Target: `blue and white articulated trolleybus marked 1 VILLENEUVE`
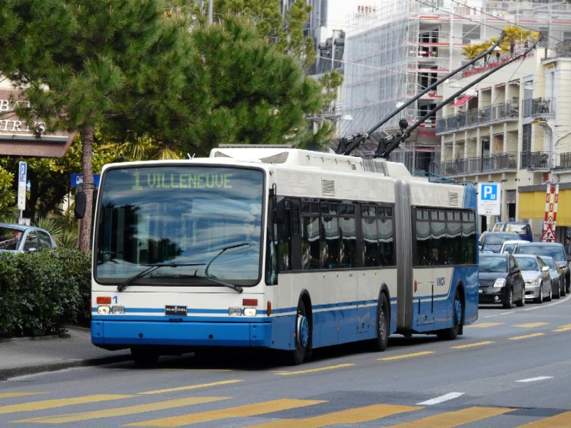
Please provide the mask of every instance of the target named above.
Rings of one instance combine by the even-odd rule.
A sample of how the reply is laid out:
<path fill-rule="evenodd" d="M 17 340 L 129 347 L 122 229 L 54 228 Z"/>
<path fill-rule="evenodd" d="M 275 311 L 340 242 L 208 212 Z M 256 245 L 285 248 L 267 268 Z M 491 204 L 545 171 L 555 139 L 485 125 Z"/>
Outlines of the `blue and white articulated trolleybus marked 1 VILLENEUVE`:
<path fill-rule="evenodd" d="M 477 320 L 476 195 L 401 163 L 289 148 L 106 165 L 91 338 L 134 360 L 314 348 Z"/>

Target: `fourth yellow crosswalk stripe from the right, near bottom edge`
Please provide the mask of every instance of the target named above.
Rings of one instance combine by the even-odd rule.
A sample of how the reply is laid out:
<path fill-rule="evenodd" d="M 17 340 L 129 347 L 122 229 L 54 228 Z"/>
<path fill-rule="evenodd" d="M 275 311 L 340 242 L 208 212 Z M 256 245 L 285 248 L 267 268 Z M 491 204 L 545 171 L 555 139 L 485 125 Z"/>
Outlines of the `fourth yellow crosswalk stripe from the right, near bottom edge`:
<path fill-rule="evenodd" d="M 198 422 L 217 421 L 229 417 L 250 417 L 258 414 L 280 412 L 296 407 L 312 406 L 325 403 L 317 399 L 276 399 L 268 402 L 246 404 L 244 406 L 228 407 L 227 409 L 211 410 L 210 412 L 189 413 L 181 416 L 151 419 L 143 422 L 128 424 L 126 427 L 181 427 Z"/>

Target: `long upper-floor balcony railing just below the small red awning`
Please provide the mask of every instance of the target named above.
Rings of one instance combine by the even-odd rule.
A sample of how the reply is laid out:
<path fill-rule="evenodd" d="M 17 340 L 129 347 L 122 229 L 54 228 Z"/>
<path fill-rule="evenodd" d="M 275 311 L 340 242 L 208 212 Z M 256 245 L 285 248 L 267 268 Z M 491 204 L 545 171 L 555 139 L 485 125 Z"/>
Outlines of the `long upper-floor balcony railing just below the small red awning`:
<path fill-rule="evenodd" d="M 453 116 L 439 118 L 436 123 L 436 132 L 445 133 L 458 131 L 462 128 L 480 126 L 485 123 L 517 119 L 520 116 L 518 101 L 494 104 L 492 106 L 473 108 Z"/>

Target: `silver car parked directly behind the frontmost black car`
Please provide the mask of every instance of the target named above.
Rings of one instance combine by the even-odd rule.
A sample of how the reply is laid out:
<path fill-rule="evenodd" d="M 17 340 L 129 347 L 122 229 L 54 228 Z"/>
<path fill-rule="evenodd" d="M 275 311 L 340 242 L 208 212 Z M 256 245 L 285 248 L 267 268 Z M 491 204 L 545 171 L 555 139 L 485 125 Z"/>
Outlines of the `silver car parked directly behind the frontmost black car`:
<path fill-rule="evenodd" d="M 515 260 L 525 281 L 525 298 L 542 303 L 551 300 L 551 277 L 549 267 L 541 260 L 539 255 L 515 254 Z"/>

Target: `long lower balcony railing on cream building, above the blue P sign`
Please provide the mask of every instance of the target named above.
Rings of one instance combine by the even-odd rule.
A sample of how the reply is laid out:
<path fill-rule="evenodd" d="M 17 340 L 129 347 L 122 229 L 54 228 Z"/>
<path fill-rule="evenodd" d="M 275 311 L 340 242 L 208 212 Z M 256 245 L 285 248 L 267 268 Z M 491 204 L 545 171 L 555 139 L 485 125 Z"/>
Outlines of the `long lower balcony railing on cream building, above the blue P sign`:
<path fill-rule="evenodd" d="M 454 161 L 441 162 L 439 166 L 440 174 L 446 176 L 490 173 L 496 170 L 516 170 L 517 152 L 455 159 Z"/>

